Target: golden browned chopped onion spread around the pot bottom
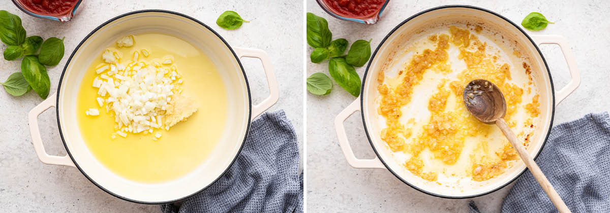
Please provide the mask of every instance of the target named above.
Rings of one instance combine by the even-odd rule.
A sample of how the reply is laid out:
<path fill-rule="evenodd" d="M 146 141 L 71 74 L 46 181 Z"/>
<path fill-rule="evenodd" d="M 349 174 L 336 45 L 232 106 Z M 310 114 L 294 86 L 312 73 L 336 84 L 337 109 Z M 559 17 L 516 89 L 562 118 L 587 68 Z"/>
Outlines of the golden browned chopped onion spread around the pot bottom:
<path fill-rule="evenodd" d="M 381 131 L 381 139 L 386 142 L 393 152 L 406 152 L 411 158 L 404 162 L 403 166 L 414 175 L 424 180 L 436 181 L 436 172 L 424 172 L 424 162 L 420 153 L 429 150 L 435 159 L 444 164 L 455 164 L 464 149 L 464 140 L 468 137 L 487 137 L 492 133 L 492 126 L 476 120 L 468 113 L 462 98 L 451 102 L 451 96 L 462 97 L 464 87 L 468 82 L 475 79 L 486 79 L 500 88 L 506 99 L 507 113 L 505 119 L 511 127 L 517 125 L 514 119 L 519 107 L 523 108 L 523 89 L 511 83 L 511 68 L 507 63 L 497 65 L 497 57 L 494 59 L 486 54 L 486 43 L 481 42 L 476 35 L 467 29 L 459 29 L 451 26 L 450 35 L 439 34 L 427 37 L 429 41 L 436 41 L 436 48 L 425 49 L 416 52 L 403 68 L 400 68 L 401 82 L 398 85 L 384 84 L 386 79 L 383 71 L 378 75 L 379 99 L 378 113 L 386 118 L 387 127 Z M 458 72 L 454 79 L 443 79 L 437 83 L 437 92 L 428 99 L 428 111 L 431 113 L 428 124 L 423 124 L 422 131 L 412 135 L 411 124 L 401 124 L 400 117 L 403 116 L 401 107 L 411 102 L 414 87 L 423 80 L 427 71 L 450 74 L 451 64 L 448 62 L 448 48 L 450 42 L 459 49 L 458 58 L 464 60 L 466 68 Z M 416 50 L 417 51 L 417 50 Z M 532 84 L 529 66 L 523 64 Z M 486 88 L 481 88 L 486 89 Z M 472 94 L 475 96 L 476 94 Z M 531 117 L 539 115 L 539 103 L 537 97 L 533 103 L 529 103 L 526 110 Z M 533 121 L 527 120 L 528 125 Z M 414 130 L 414 132 L 416 132 Z M 523 136 L 523 134 L 522 134 Z M 529 139 L 529 136 L 527 136 Z M 406 144 L 407 139 L 409 143 Z M 493 159 L 471 159 L 472 170 L 466 171 L 472 175 L 473 180 L 484 181 L 504 173 L 509 161 L 516 159 L 514 149 L 503 141 L 502 150 L 495 153 L 497 158 Z M 493 155 L 493 154 L 492 154 Z M 473 156 L 470 156 L 473 158 Z"/>

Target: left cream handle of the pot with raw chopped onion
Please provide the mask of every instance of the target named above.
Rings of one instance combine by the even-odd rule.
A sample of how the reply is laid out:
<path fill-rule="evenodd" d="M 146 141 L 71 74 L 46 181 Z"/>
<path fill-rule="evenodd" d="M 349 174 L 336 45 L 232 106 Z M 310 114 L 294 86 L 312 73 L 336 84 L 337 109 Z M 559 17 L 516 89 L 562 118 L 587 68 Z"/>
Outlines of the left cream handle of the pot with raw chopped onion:
<path fill-rule="evenodd" d="M 43 100 L 43 102 L 35 106 L 34 109 L 30 110 L 29 114 L 27 114 L 27 125 L 29 125 L 30 134 L 32 134 L 32 144 L 34 144 L 34 150 L 36 151 L 36 155 L 38 155 L 38 159 L 45 164 L 76 167 L 68 155 L 54 156 L 46 153 L 45 145 L 42 144 L 42 139 L 40 138 L 40 130 L 38 130 L 38 116 L 48 108 L 56 107 L 56 96 L 57 93 L 47 97 L 45 100 Z"/>

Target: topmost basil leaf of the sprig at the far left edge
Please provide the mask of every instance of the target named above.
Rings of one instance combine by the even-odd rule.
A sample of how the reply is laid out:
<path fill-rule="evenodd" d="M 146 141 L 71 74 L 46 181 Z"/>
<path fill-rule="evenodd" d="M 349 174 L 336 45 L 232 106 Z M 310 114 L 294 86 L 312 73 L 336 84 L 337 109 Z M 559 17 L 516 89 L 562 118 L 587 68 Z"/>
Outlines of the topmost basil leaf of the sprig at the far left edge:
<path fill-rule="evenodd" d="M 21 18 L 6 10 L 0 10 L 0 40 L 7 46 L 18 46 L 26 41 L 26 29 Z"/>

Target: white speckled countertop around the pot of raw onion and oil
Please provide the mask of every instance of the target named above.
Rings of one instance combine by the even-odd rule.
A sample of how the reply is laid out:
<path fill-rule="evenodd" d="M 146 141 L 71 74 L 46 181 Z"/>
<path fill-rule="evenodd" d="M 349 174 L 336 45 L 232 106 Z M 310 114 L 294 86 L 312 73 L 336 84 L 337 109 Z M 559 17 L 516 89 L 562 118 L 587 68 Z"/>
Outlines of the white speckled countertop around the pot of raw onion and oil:
<path fill-rule="evenodd" d="M 295 127 L 303 147 L 303 2 L 277 1 L 94 1 L 84 0 L 74 19 L 59 23 L 34 18 L 18 10 L 11 1 L 0 2 L 0 10 L 21 17 L 27 35 L 43 38 L 66 37 L 65 55 L 60 65 L 48 68 L 51 94 L 56 93 L 59 76 L 74 47 L 95 27 L 123 13 L 143 9 L 173 10 L 192 16 L 216 30 L 231 46 L 266 51 L 279 82 L 279 101 L 270 110 L 284 110 Z M 205 2 L 205 3 L 199 3 Z M 201 5 L 198 5 L 201 4 Z M 237 30 L 224 30 L 216 19 L 224 10 L 234 10 L 250 21 Z M 2 51 L 4 44 L 0 44 Z M 262 65 L 243 58 L 252 89 L 253 103 L 268 96 Z M 20 71 L 19 61 L 0 58 L 0 81 Z M 0 206 L 3 212 L 159 212 L 157 205 L 129 203 L 106 194 L 73 167 L 51 166 L 34 153 L 27 127 L 27 112 L 42 100 L 33 91 L 13 97 L 0 89 Z M 55 110 L 38 118 L 47 152 L 65 155 L 57 128 Z"/>

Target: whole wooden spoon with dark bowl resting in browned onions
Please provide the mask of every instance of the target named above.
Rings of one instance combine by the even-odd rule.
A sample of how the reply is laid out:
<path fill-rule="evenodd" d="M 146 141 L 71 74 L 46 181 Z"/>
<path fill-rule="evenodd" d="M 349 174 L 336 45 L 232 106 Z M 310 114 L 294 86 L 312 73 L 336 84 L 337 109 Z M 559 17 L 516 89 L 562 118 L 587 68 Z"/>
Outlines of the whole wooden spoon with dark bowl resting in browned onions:
<path fill-rule="evenodd" d="M 529 156 L 528 151 L 521 144 L 515 133 L 512 132 L 511 128 L 508 127 L 506 121 L 504 121 L 504 114 L 506 114 L 506 101 L 504 95 L 498 89 L 496 85 L 487 80 L 473 80 L 468 83 L 464 89 L 464 103 L 470 113 L 486 124 L 496 124 L 504 133 L 504 136 L 511 142 L 512 147 L 517 150 L 519 156 L 525 162 L 525 166 L 528 167 L 529 172 L 534 175 L 534 178 L 538 181 L 542 189 L 547 192 L 548 198 L 551 199 L 555 207 L 559 212 L 570 212 L 557 191 L 553 188 L 551 183 L 548 182 L 547 177 L 544 176 L 540 167 L 536 164 L 536 161 Z"/>

